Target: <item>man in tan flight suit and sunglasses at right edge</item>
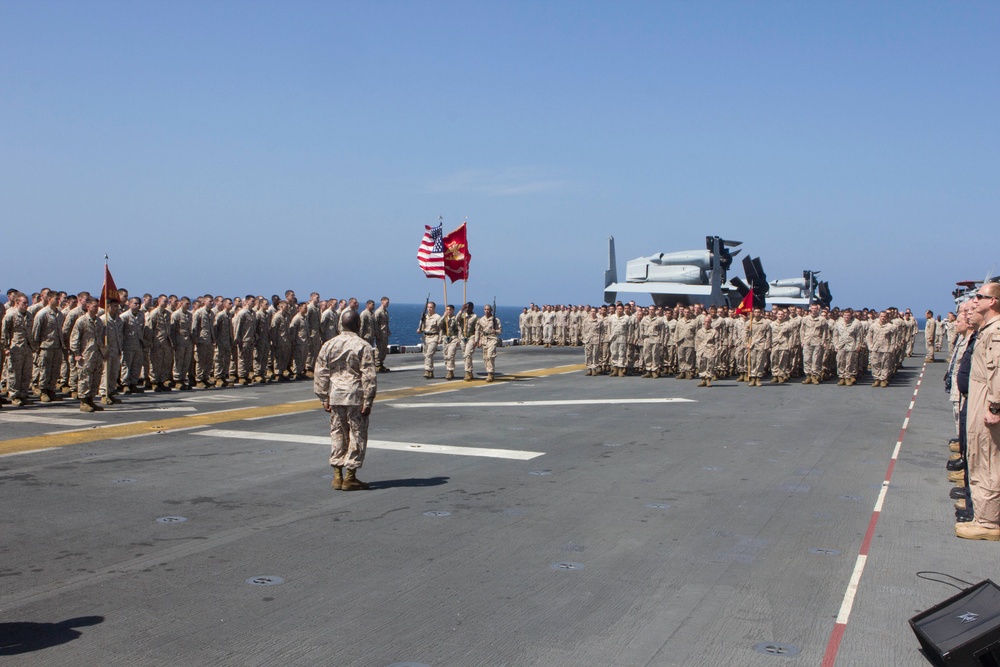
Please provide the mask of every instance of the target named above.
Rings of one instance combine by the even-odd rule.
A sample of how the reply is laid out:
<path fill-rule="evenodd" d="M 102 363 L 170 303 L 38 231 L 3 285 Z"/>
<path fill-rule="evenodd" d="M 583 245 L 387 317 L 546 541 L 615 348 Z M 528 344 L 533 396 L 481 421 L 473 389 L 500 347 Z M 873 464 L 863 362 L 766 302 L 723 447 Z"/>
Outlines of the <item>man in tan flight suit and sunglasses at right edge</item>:
<path fill-rule="evenodd" d="M 969 371 L 966 418 L 969 487 L 974 518 L 956 523 L 955 535 L 1000 541 L 1000 284 L 986 283 L 973 297 L 978 324 Z"/>

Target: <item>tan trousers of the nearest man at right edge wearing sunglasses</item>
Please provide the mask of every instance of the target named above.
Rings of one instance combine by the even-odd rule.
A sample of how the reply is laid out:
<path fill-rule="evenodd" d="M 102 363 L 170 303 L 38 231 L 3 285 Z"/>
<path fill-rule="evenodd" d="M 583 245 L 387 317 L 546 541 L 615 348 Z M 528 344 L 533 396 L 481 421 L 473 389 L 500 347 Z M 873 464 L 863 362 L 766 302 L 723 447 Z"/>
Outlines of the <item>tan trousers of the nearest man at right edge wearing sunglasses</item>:
<path fill-rule="evenodd" d="M 970 389 L 970 399 L 974 392 Z M 966 461 L 969 465 L 969 489 L 979 525 L 1000 525 L 1000 424 L 986 426 L 983 413 L 985 402 L 978 410 L 967 413 L 965 424 L 968 438 Z"/>

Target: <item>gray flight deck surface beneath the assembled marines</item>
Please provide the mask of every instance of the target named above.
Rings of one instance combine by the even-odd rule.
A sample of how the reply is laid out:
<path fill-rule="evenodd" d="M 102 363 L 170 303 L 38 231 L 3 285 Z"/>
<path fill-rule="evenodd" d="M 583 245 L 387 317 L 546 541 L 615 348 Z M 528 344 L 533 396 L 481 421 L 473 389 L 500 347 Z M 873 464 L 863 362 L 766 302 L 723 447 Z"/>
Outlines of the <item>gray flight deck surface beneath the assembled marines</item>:
<path fill-rule="evenodd" d="M 498 368 L 582 357 L 505 348 Z M 428 384 L 419 357 L 389 362 L 409 370 L 380 391 Z M 373 447 L 368 492 L 330 489 L 321 411 L 5 456 L 0 663 L 819 665 L 922 363 L 888 389 L 453 382 L 377 403 L 370 438 L 544 454 Z M 837 665 L 928 664 L 907 619 L 957 591 L 916 573 L 997 576 L 1000 547 L 953 536 L 944 366 L 916 398 Z M 116 424 L 311 397 L 303 382 L 146 394 L 96 416 L 4 406 L 0 441 L 80 427 L 27 415 Z M 661 397 L 693 402 L 530 403 Z M 502 401 L 526 403 L 454 405 Z M 247 583 L 262 576 L 283 583 Z M 25 633 L 24 652 L 3 648 Z"/>

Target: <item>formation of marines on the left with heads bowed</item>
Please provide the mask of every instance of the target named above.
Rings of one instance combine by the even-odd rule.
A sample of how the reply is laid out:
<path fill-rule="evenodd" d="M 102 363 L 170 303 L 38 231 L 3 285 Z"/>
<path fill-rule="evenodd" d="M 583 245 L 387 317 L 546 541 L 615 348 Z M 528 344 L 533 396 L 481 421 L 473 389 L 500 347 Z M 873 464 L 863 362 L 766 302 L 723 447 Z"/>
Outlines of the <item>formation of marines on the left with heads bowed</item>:
<path fill-rule="evenodd" d="M 0 368 L 9 402 L 24 406 L 78 399 L 82 412 L 120 403 L 120 394 L 189 391 L 312 378 L 323 343 L 341 331 L 348 311 L 358 315 L 360 337 L 385 372 L 389 350 L 389 299 L 299 302 L 246 295 L 228 298 L 119 290 L 101 308 L 89 292 L 48 288 L 31 295 L 7 293 L 0 305 Z M 2 401 L 0 401 L 2 404 Z"/>

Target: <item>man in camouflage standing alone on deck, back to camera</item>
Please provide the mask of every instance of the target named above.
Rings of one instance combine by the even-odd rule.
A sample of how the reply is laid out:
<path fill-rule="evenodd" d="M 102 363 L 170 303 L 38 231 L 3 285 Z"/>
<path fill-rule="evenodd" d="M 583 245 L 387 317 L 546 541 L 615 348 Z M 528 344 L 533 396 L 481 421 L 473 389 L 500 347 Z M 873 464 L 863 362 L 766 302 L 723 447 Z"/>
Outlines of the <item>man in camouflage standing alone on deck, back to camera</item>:
<path fill-rule="evenodd" d="M 358 335 L 358 314 L 346 311 L 340 329 L 316 355 L 313 391 L 330 413 L 333 488 L 355 491 L 368 488 L 357 478 L 357 470 L 365 462 L 368 416 L 375 402 L 378 372 L 371 345 Z"/>

